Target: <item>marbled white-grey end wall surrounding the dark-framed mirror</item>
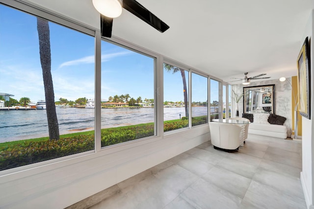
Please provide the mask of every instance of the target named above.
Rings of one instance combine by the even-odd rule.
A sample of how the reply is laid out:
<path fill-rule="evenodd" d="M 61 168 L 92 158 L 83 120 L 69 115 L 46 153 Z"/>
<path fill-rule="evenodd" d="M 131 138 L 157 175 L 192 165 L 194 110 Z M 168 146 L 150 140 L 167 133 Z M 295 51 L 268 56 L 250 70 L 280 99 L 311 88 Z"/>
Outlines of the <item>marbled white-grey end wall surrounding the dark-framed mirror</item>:
<path fill-rule="evenodd" d="M 298 53 L 298 52 L 297 52 Z M 297 55 L 296 55 L 297 57 Z M 297 72 L 295 72 L 296 75 Z M 291 78 L 287 78 L 291 82 Z M 281 82 L 279 79 L 276 80 L 266 80 L 252 82 L 249 85 L 237 84 L 233 85 L 235 93 L 242 93 L 243 87 L 251 86 L 263 86 L 275 84 L 275 114 L 279 116 L 284 116 L 287 118 L 285 125 L 287 129 L 291 130 L 292 127 L 292 115 L 291 115 L 291 86 L 288 82 Z M 242 116 L 243 113 L 243 100 L 239 102 L 239 116 Z"/>

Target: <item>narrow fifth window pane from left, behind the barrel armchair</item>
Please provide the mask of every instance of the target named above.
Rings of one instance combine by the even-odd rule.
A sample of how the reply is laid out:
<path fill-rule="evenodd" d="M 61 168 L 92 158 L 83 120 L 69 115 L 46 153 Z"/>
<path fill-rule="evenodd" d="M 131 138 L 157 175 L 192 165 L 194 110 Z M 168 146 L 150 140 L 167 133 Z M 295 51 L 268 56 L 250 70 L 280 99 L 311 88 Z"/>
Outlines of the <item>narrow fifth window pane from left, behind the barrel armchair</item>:
<path fill-rule="evenodd" d="M 219 81 L 210 79 L 210 121 L 219 118 L 219 86 Z"/>

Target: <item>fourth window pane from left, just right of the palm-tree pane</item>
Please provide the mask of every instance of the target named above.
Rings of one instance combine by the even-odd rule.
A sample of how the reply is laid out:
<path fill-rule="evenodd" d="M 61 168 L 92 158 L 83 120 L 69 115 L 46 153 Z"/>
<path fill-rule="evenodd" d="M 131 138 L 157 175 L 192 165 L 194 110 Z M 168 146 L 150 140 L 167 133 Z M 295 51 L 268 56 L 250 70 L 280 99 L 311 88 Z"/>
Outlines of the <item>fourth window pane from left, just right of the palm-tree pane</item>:
<path fill-rule="evenodd" d="M 192 73 L 192 126 L 207 123 L 208 78 Z"/>

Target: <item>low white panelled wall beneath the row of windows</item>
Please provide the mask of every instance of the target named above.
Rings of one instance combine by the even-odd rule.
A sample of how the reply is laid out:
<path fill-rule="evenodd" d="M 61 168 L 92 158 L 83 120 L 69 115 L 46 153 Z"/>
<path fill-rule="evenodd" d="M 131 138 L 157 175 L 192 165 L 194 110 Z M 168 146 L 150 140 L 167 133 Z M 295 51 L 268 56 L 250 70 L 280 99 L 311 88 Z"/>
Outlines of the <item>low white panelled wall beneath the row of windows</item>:
<path fill-rule="evenodd" d="M 207 140 L 208 124 L 1 176 L 0 208 L 63 209 Z"/>

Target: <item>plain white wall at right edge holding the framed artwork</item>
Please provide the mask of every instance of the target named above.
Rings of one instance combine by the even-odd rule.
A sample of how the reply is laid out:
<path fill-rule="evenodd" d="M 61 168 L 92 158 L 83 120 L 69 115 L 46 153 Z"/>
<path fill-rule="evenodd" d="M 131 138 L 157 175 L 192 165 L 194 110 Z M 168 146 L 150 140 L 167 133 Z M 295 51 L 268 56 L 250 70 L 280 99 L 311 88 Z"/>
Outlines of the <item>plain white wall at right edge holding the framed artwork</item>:
<path fill-rule="evenodd" d="M 309 21 L 305 28 L 303 37 L 300 40 L 300 49 L 303 45 L 305 38 L 309 37 L 310 49 L 311 49 L 311 113 L 313 113 L 314 106 L 314 90 L 313 90 L 313 34 L 314 34 L 314 13 L 312 11 Z M 308 208 L 314 209 L 314 143 L 313 143 L 313 114 L 311 119 L 302 117 L 302 172 L 301 182 L 303 192 Z"/>

